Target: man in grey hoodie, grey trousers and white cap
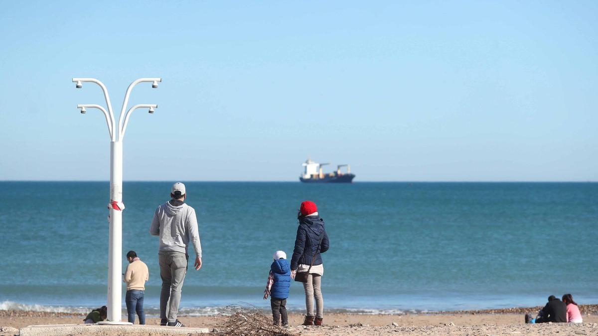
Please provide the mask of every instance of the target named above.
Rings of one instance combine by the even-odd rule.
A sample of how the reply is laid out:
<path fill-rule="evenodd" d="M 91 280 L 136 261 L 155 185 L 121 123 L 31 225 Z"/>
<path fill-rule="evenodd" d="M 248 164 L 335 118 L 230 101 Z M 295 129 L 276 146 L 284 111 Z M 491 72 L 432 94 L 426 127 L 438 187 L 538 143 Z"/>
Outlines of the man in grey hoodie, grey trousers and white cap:
<path fill-rule="evenodd" d="M 172 200 L 158 206 L 149 233 L 160 236 L 158 261 L 162 290 L 160 292 L 160 325 L 184 326 L 176 315 L 181 302 L 181 288 L 187 274 L 189 240 L 195 249 L 195 269 L 202 268 L 202 245 L 199 241 L 195 209 L 185 204 L 185 185 L 177 182 L 170 191 Z M 168 316 L 166 316 L 168 306 Z"/>

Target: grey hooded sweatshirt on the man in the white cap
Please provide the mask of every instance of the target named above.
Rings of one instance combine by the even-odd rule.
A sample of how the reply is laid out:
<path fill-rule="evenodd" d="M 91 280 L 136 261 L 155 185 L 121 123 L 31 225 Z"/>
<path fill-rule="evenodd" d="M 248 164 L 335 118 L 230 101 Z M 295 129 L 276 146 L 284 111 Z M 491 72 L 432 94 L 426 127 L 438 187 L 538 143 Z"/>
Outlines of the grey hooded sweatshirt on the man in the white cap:
<path fill-rule="evenodd" d="M 155 209 L 149 233 L 160 236 L 159 251 L 176 251 L 187 254 L 189 240 L 199 258 L 202 258 L 202 244 L 199 241 L 195 209 L 185 203 L 176 206 L 166 202 Z"/>

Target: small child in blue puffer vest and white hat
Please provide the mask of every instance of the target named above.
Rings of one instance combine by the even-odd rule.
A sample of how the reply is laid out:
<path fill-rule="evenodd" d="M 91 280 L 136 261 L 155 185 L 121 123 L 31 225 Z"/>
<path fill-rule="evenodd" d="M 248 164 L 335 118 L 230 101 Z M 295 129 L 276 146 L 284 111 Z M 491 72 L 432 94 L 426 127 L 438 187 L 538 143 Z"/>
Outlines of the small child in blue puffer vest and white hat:
<path fill-rule="evenodd" d="M 273 258 L 274 262 L 270 265 L 270 275 L 266 283 L 266 291 L 264 291 L 264 300 L 270 295 L 274 325 L 280 325 L 279 320 L 282 317 L 282 325 L 288 326 L 286 298 L 289 297 L 289 289 L 291 288 L 291 265 L 286 260 L 286 253 L 283 251 L 276 251 Z"/>

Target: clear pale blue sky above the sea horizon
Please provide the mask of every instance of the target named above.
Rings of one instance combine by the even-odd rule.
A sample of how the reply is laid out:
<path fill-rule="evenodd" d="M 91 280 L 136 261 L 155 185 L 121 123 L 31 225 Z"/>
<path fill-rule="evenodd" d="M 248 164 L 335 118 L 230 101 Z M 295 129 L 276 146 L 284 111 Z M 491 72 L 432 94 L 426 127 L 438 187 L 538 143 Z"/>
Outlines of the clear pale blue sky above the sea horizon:
<path fill-rule="evenodd" d="M 596 1 L 0 2 L 0 180 L 598 181 Z M 328 170 L 331 170 L 328 168 Z"/>

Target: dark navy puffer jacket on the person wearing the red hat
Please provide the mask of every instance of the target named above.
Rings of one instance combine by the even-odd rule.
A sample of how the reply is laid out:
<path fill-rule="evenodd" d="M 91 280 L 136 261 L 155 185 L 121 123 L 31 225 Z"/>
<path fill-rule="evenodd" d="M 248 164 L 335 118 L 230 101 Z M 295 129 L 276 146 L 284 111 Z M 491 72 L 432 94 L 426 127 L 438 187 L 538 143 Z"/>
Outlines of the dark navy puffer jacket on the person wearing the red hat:
<path fill-rule="evenodd" d="M 323 236 L 323 238 L 322 238 Z M 318 249 L 318 243 L 322 238 L 322 245 L 319 249 L 314 265 L 322 264 L 320 253 L 328 251 L 329 242 L 326 230 L 324 230 L 324 219 L 319 216 L 305 216 L 299 219 L 297 228 L 297 238 L 295 239 L 295 249 L 291 258 L 291 270 L 297 270 L 298 264 L 312 264 L 313 254 Z"/>

